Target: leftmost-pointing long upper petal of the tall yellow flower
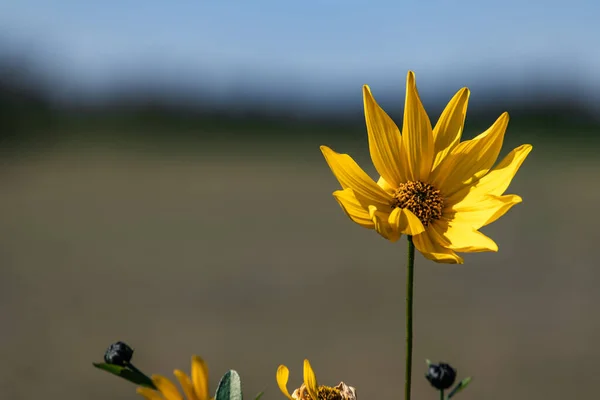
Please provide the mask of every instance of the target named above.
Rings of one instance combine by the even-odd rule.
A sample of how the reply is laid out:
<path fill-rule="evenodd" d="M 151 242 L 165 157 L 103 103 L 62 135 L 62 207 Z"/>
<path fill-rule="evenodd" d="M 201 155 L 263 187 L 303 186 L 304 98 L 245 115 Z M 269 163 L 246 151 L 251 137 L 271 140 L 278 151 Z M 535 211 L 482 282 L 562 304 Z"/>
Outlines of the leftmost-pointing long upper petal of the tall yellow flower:
<path fill-rule="evenodd" d="M 321 151 L 342 188 L 352 189 L 361 203 L 382 208 L 390 204 L 390 196 L 354 162 L 352 157 L 336 153 L 327 146 L 321 146 Z"/>

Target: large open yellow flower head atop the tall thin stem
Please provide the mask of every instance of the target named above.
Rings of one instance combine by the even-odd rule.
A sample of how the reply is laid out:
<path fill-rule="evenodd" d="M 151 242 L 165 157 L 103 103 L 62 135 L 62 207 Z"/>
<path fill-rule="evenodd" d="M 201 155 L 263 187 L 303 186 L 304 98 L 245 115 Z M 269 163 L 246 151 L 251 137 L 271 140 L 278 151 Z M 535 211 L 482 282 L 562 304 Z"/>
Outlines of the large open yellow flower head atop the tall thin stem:
<path fill-rule="evenodd" d="M 521 145 L 492 168 L 508 114 L 461 142 L 469 89 L 454 95 L 432 129 L 409 71 L 401 135 L 366 85 L 363 97 L 369 152 L 381 176 L 377 183 L 349 155 L 321 146 L 343 189 L 333 196 L 350 219 L 392 242 L 412 235 L 416 248 L 436 262 L 462 264 L 455 252 L 498 251 L 479 229 L 522 201 L 503 193 L 532 149 Z"/>

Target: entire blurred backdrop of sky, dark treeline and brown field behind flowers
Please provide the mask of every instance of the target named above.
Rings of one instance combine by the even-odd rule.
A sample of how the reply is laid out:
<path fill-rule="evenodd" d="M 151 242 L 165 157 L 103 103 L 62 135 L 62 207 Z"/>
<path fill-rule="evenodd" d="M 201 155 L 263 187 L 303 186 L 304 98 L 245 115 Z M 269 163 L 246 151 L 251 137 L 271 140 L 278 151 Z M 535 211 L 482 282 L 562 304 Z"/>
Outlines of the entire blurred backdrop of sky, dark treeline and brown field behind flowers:
<path fill-rule="evenodd" d="M 508 111 L 534 151 L 484 229 L 497 254 L 420 255 L 425 358 L 460 398 L 597 393 L 600 10 L 591 1 L 0 2 L 0 397 L 134 399 L 106 347 L 172 377 L 204 357 L 247 398 L 321 383 L 403 396 L 405 240 L 350 222 L 319 151 L 370 173 L 361 86 L 401 123 L 414 70 L 464 138 Z M 596 238 L 596 239 L 594 239 Z"/>

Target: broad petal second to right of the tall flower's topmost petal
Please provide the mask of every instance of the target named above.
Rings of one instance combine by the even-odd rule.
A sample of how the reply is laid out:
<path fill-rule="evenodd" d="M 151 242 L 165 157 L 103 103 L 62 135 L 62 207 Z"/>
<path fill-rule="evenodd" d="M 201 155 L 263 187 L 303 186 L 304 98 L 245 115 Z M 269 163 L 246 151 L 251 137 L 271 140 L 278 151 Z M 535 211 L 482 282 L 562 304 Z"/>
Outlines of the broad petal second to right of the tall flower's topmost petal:
<path fill-rule="evenodd" d="M 459 143 L 432 174 L 433 186 L 451 196 L 485 175 L 498 158 L 508 119 L 504 113 L 488 130 Z"/>

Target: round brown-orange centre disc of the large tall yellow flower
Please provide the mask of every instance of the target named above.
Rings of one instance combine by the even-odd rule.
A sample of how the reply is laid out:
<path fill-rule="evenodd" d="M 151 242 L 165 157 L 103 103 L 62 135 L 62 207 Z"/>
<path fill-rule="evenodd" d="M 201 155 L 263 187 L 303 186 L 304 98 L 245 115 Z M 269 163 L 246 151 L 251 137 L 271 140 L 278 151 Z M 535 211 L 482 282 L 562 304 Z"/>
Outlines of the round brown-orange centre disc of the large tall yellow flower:
<path fill-rule="evenodd" d="M 423 226 L 440 219 L 444 208 L 444 198 L 439 189 L 429 183 L 411 181 L 401 183 L 396 192 L 392 208 L 406 208 L 417 216 Z"/>

